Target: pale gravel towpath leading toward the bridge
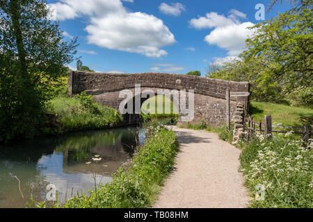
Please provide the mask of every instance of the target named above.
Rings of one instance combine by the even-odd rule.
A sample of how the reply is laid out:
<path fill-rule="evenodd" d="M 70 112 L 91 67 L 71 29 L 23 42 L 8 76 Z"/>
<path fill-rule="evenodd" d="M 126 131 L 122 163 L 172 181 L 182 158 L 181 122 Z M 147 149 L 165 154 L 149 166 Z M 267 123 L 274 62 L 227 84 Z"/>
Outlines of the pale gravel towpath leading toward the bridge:
<path fill-rule="evenodd" d="M 241 151 L 215 133 L 169 128 L 175 130 L 181 150 L 154 207 L 247 207 L 250 196 L 238 172 Z"/>

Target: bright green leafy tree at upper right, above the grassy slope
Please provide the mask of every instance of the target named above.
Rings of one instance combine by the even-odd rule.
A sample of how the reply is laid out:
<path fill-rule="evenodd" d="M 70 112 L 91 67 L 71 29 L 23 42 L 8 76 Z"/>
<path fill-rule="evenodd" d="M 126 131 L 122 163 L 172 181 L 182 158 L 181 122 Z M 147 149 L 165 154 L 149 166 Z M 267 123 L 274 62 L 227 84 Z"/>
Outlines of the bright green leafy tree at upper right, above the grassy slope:
<path fill-rule="evenodd" d="M 297 2 L 298 8 L 252 27 L 255 35 L 247 40 L 249 49 L 241 55 L 246 63 L 262 58 L 262 70 L 287 92 L 310 87 L 313 80 L 312 0 Z"/>

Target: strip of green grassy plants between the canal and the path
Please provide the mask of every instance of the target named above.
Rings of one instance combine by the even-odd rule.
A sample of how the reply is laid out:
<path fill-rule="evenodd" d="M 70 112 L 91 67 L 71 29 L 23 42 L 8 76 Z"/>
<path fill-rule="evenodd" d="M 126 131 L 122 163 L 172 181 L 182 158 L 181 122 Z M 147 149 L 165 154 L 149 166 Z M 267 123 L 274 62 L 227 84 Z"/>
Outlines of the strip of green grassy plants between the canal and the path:
<path fill-rule="evenodd" d="M 149 130 L 145 145 L 113 174 L 111 183 L 89 191 L 88 195 L 75 196 L 62 207 L 151 207 L 172 171 L 179 146 L 173 132 L 160 126 L 151 126 Z"/>

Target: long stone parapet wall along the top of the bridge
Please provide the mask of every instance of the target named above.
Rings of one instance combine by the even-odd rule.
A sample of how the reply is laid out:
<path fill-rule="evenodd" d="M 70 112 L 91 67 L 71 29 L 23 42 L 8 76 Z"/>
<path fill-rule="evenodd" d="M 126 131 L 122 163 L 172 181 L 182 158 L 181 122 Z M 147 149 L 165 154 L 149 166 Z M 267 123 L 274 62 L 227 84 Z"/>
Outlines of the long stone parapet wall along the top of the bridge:
<path fill-rule="evenodd" d="M 141 87 L 182 90 L 193 89 L 195 94 L 225 99 L 226 89 L 231 92 L 250 92 L 250 83 L 220 80 L 201 76 L 168 73 L 113 74 L 99 72 L 70 71 L 68 78 L 69 94 L 88 92 L 101 94 L 130 89 L 135 84 Z M 232 101 L 248 101 L 249 96 L 232 96 Z"/>

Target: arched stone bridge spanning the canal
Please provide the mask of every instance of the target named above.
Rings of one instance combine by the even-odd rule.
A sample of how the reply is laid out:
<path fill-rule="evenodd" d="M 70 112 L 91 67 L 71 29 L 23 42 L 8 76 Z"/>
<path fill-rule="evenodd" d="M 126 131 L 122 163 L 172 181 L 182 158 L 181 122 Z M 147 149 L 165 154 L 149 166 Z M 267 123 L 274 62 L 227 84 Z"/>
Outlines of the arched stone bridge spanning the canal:
<path fill-rule="evenodd" d="M 68 94 L 70 96 L 85 91 L 87 94 L 93 95 L 95 101 L 115 109 L 118 109 L 120 103 L 125 100 L 124 97 L 119 98 L 120 92 L 123 89 L 131 90 L 134 97 L 138 96 L 138 92 L 135 92 L 136 84 L 141 85 L 141 92 L 145 89 L 150 89 L 155 94 L 157 94 L 158 89 L 177 89 L 179 92 L 185 89 L 187 92 L 187 104 L 188 90 L 193 89 L 195 117 L 191 123 L 198 124 L 203 119 L 210 126 L 220 126 L 225 123 L 226 89 L 230 89 L 230 92 L 250 92 L 250 84 L 246 82 L 239 83 L 199 76 L 161 73 L 106 74 L 70 71 L 67 84 Z M 173 100 L 172 98 L 170 99 Z M 141 98 L 141 105 L 145 100 Z M 249 107 L 249 96 L 231 96 L 231 118 L 234 116 L 236 104 L 239 101 L 245 104 L 245 109 Z M 179 119 L 181 119 L 183 114 L 179 108 L 177 110 L 179 110 Z M 138 114 L 124 115 L 126 121 L 129 123 L 138 121 L 138 116 Z"/>

